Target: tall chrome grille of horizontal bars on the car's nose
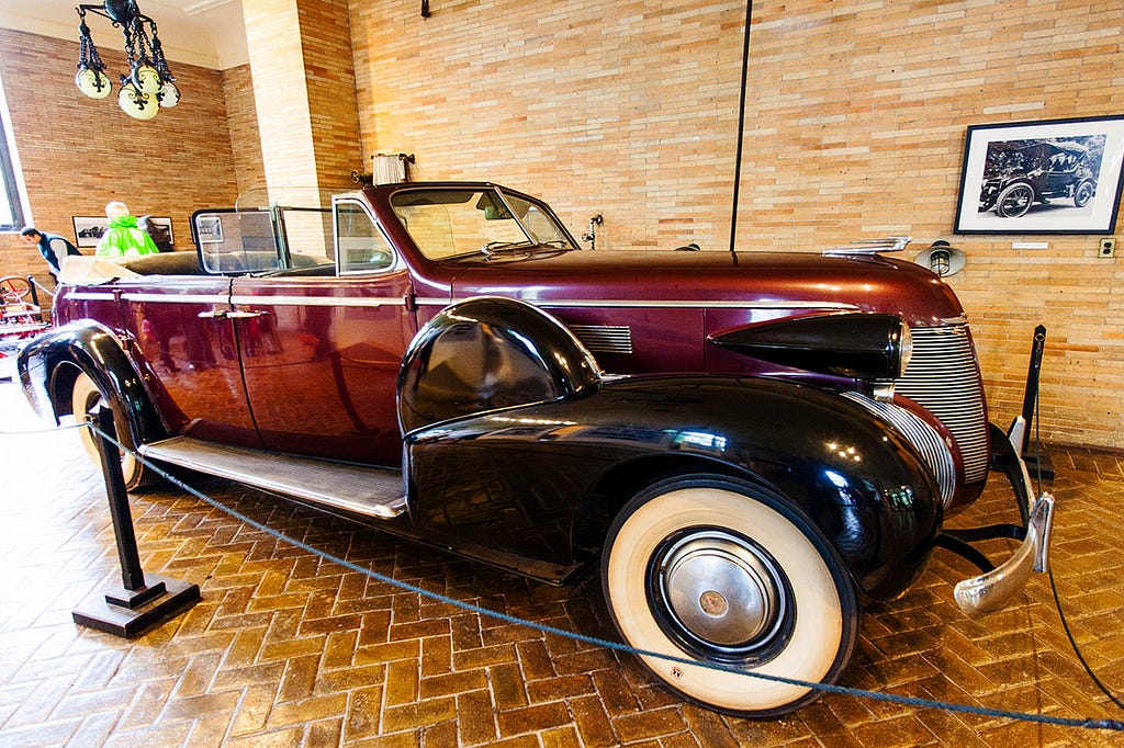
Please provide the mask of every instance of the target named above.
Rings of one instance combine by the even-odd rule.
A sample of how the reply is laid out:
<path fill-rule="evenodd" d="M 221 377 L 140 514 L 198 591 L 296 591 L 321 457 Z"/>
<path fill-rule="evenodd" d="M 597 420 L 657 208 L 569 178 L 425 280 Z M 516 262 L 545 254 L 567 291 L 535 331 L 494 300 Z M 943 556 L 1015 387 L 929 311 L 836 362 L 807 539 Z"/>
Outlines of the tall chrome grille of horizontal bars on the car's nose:
<path fill-rule="evenodd" d="M 984 387 L 967 325 L 915 327 L 913 359 L 895 381 L 898 394 L 936 416 L 952 432 L 964 460 L 964 480 L 987 477 L 987 417 Z"/>

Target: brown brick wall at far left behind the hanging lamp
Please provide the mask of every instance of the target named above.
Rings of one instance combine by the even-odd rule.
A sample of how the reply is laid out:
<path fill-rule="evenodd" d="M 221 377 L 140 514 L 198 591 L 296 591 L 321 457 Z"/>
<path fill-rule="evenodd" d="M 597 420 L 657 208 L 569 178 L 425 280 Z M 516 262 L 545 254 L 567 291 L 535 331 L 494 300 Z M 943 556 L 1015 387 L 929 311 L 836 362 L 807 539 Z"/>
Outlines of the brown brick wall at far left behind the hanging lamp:
<path fill-rule="evenodd" d="M 190 248 L 192 211 L 233 204 L 237 195 L 224 75 L 173 62 L 180 104 L 151 121 L 136 121 L 117 107 L 116 79 L 125 70 L 125 55 L 115 49 L 120 34 L 109 31 L 94 30 L 94 40 L 114 93 L 94 101 L 74 86 L 76 42 L 0 29 L 0 76 L 30 220 L 73 240 L 72 216 L 103 216 L 108 201 L 123 200 L 136 216 L 170 216 L 176 247 Z M 235 86 L 234 76 L 227 83 L 226 90 Z M 252 94 L 250 108 L 252 112 Z M 0 272 L 34 274 L 49 285 L 46 270 L 18 236 L 0 235 Z"/>

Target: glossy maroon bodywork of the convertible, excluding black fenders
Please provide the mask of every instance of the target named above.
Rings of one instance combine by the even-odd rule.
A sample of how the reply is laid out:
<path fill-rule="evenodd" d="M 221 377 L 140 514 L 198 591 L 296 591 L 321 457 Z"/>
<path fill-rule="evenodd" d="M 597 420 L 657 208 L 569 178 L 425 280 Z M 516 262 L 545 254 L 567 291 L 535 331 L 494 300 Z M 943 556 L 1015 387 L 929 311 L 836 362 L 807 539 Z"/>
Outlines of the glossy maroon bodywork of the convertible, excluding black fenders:
<path fill-rule="evenodd" d="M 514 255 L 434 258 L 392 204 L 395 195 L 493 189 L 411 184 L 337 198 L 337 209 L 353 207 L 373 218 L 387 239 L 393 259 L 374 273 L 337 273 L 325 254 L 330 248 L 319 244 L 301 253 L 289 231 L 291 247 L 278 253 L 277 272 L 176 275 L 142 283 L 135 293 L 126 284 L 114 294 L 64 286 L 57 318 L 111 326 L 117 320 L 145 346 L 143 358 L 161 368 L 160 410 L 170 414 L 176 432 L 389 465 L 400 451 L 393 400 L 399 362 L 420 326 L 455 300 L 528 301 L 570 326 L 611 373 L 754 374 L 865 392 L 873 383 L 786 366 L 777 357 L 747 357 L 711 340 L 783 319 L 898 314 L 916 348 L 906 375 L 894 383 L 895 399 L 946 437 L 954 471 L 942 486 L 949 505 L 963 505 L 982 490 L 988 428 L 971 336 L 955 295 L 927 270 L 874 253 L 579 252 L 568 234 L 561 236 L 563 246 L 536 252 L 517 247 Z M 553 218 L 542 203 L 519 197 Z M 194 220 L 216 217 L 227 221 L 227 244 L 235 219 L 257 218 L 250 211 L 200 211 Z M 206 252 L 214 245 L 199 246 Z M 312 266 L 285 267 L 310 256 Z M 157 259 L 170 266 L 172 258 Z M 205 254 L 202 265 L 207 262 Z M 152 265 L 143 259 L 125 264 L 146 273 Z M 332 274 L 323 275 L 325 270 Z M 210 322 L 200 325 L 200 316 Z M 241 336 L 235 321 L 245 328 Z M 846 341 L 817 345 L 845 347 Z M 241 357 L 232 356 L 235 352 Z M 324 352 L 332 355 L 310 355 Z M 355 377 L 362 386 L 352 385 Z"/>

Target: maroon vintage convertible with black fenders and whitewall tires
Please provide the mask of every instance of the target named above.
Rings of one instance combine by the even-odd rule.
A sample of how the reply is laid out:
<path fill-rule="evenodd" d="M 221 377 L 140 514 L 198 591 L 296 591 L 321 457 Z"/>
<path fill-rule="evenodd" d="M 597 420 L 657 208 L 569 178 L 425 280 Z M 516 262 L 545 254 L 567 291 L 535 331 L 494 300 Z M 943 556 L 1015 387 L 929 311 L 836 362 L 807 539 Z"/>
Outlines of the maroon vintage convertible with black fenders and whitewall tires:
<path fill-rule="evenodd" d="M 982 614 L 1042 569 L 1050 499 L 1032 503 L 1017 429 L 988 426 L 955 295 L 917 265 L 581 250 L 488 183 L 192 222 L 196 253 L 67 261 L 58 327 L 18 361 L 39 412 L 107 404 L 147 459 L 546 583 L 599 567 L 624 640 L 707 706 L 815 699 L 860 601 L 963 550 L 943 522 L 992 456 L 1023 544 L 955 598 Z"/>

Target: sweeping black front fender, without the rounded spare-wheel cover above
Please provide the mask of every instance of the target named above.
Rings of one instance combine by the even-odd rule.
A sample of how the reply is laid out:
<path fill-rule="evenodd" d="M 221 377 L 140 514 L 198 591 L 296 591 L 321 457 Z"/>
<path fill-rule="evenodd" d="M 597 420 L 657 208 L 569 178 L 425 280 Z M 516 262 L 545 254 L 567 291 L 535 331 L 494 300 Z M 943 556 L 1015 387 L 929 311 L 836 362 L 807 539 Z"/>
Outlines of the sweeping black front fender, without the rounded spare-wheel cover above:
<path fill-rule="evenodd" d="M 407 449 L 427 530 L 558 564 L 575 554 L 562 548 L 564 530 L 573 542 L 574 528 L 604 526 L 676 472 L 737 475 L 798 508 L 878 599 L 916 580 L 943 518 L 933 477 L 896 430 L 843 398 L 771 380 L 606 381 L 434 425 Z"/>

